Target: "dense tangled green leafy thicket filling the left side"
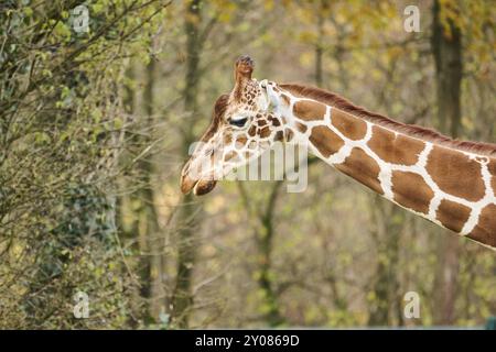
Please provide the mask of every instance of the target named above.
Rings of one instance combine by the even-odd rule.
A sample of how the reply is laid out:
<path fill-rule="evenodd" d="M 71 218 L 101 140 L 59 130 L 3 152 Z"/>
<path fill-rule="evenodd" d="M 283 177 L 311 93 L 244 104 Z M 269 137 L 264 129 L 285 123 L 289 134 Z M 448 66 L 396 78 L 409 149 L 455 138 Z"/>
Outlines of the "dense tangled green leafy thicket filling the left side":
<path fill-rule="evenodd" d="M 147 44 L 140 30 L 153 30 L 166 3 L 104 11 L 97 1 L 90 30 L 82 33 L 71 18 L 75 6 L 9 1 L 0 8 L 8 45 L 0 55 L 3 327 L 118 326 L 129 305 L 133 282 L 115 211 L 118 152 L 126 146 L 120 68 Z M 99 318 L 74 320 L 77 292 L 90 297 Z M 114 304 L 122 310 L 109 309 Z"/>

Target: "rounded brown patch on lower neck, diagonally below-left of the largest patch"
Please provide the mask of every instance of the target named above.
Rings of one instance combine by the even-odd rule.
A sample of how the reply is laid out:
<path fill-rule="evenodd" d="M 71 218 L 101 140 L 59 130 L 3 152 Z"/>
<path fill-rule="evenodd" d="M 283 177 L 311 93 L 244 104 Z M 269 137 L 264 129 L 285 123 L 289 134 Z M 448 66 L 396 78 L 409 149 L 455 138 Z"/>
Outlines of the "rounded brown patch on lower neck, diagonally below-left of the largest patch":
<path fill-rule="evenodd" d="M 434 191 L 425 184 L 422 176 L 393 170 L 391 184 L 395 201 L 417 212 L 429 212 L 429 204 L 434 197 Z"/>

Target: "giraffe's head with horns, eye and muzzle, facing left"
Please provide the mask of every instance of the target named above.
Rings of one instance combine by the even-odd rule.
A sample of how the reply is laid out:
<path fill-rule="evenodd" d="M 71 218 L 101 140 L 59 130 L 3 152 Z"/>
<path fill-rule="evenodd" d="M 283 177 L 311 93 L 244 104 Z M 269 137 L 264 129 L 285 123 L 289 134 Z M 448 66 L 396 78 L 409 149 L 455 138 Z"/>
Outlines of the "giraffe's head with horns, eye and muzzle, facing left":
<path fill-rule="evenodd" d="M 209 193 L 218 179 L 283 140 L 281 118 L 269 111 L 267 89 L 251 78 L 252 72 L 250 57 L 236 61 L 235 87 L 215 102 L 212 123 L 183 167 L 184 194 Z"/>

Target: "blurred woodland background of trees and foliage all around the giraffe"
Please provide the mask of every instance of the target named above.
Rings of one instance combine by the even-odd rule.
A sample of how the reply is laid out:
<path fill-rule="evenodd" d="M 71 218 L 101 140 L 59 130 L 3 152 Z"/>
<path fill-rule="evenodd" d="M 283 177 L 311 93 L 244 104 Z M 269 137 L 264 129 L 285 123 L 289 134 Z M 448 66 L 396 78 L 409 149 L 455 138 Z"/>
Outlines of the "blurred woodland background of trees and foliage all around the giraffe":
<path fill-rule="evenodd" d="M 0 328 L 484 324 L 494 253 L 323 163 L 302 194 L 193 198 L 179 174 L 241 54 L 259 79 L 495 142 L 495 19 L 490 0 L 2 1 Z"/>

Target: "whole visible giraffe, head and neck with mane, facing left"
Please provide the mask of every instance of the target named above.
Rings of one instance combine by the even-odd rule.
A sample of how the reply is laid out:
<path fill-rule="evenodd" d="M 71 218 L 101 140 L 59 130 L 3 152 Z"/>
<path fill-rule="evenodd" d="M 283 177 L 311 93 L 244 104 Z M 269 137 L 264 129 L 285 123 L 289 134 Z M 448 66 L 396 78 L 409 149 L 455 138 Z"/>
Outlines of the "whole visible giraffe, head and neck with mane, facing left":
<path fill-rule="evenodd" d="M 451 140 L 319 88 L 257 81 L 252 70 L 248 56 L 235 63 L 235 87 L 217 99 L 182 169 L 183 193 L 209 193 L 276 142 L 303 144 L 393 204 L 496 251 L 496 144 Z"/>

